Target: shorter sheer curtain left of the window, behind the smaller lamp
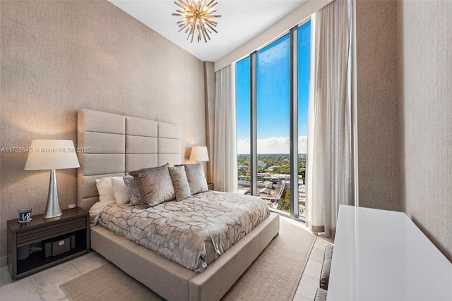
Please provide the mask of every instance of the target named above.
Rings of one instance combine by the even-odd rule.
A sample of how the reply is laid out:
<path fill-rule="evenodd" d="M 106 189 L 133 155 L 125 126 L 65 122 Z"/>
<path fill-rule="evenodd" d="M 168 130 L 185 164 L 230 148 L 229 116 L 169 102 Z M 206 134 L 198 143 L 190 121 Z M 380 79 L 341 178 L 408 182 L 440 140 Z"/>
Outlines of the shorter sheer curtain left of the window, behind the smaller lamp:
<path fill-rule="evenodd" d="M 215 73 L 213 184 L 215 190 L 237 192 L 237 135 L 234 65 Z"/>

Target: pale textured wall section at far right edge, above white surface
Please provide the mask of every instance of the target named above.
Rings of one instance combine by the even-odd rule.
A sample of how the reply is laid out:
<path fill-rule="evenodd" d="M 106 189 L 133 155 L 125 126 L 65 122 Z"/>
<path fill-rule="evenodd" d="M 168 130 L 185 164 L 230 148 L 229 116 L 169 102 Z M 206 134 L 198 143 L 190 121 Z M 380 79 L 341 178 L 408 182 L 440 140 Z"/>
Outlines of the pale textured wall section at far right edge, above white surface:
<path fill-rule="evenodd" d="M 452 261 L 452 1 L 398 3 L 403 207 Z"/>

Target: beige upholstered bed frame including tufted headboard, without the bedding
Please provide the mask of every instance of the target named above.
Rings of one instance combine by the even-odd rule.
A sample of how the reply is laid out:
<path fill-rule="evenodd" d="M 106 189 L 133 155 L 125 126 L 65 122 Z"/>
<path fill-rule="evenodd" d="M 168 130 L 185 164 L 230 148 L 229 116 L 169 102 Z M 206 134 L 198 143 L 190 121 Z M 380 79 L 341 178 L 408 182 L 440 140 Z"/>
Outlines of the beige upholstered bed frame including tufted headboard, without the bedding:
<path fill-rule="evenodd" d="M 100 111 L 78 111 L 78 207 L 98 201 L 96 178 L 180 164 L 180 126 Z M 202 273 L 184 268 L 102 226 L 90 228 L 91 248 L 167 300 L 220 300 L 279 233 L 270 216 Z"/>

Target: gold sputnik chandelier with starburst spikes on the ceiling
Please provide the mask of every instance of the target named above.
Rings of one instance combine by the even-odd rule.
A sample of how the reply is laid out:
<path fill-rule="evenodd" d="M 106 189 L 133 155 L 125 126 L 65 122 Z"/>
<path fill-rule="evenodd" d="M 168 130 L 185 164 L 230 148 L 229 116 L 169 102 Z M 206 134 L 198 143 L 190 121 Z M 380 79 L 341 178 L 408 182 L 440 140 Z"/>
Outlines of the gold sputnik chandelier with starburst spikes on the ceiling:
<path fill-rule="evenodd" d="M 209 33 L 211 30 L 218 33 L 213 27 L 217 27 L 218 22 L 210 20 L 210 18 L 221 18 L 221 15 L 214 15 L 216 12 L 215 5 L 218 2 L 211 0 L 209 4 L 204 5 L 206 0 L 177 0 L 174 4 L 179 6 L 177 13 L 173 13 L 172 16 L 182 17 L 182 20 L 177 22 L 179 26 L 179 32 L 185 29 L 185 33 L 189 33 L 187 39 L 193 43 L 194 36 L 198 38 L 198 42 L 203 37 L 204 42 L 207 43 L 207 39 L 210 40 Z"/>

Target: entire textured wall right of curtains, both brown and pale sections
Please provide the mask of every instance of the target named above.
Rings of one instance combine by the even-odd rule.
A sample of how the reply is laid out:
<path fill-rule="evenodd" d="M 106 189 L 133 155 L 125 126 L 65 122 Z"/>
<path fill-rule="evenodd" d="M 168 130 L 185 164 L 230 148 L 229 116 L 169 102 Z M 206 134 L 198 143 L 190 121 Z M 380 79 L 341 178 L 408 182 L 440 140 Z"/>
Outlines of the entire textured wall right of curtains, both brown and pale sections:
<path fill-rule="evenodd" d="M 452 261 L 452 1 L 357 1 L 359 205 Z"/>

